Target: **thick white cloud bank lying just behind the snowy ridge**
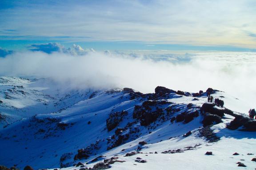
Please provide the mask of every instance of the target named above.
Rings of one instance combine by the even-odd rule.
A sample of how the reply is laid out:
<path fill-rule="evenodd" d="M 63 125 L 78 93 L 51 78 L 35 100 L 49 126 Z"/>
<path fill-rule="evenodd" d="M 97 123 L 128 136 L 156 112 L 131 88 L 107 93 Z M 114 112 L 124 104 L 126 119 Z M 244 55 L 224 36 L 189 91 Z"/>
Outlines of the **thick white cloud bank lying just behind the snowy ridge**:
<path fill-rule="evenodd" d="M 185 62 L 179 62 L 180 56 L 178 62 L 159 60 L 168 56 L 166 54 L 147 54 L 149 59 L 145 56 L 135 58 L 134 55 L 14 53 L 0 58 L 0 75 L 51 77 L 68 82 L 71 87 L 130 87 L 143 93 L 152 93 L 158 85 L 189 92 L 212 87 L 244 98 L 252 106 L 256 105 L 255 53 L 199 53 L 189 56 Z M 157 61 L 154 59 L 156 56 L 159 57 Z"/>

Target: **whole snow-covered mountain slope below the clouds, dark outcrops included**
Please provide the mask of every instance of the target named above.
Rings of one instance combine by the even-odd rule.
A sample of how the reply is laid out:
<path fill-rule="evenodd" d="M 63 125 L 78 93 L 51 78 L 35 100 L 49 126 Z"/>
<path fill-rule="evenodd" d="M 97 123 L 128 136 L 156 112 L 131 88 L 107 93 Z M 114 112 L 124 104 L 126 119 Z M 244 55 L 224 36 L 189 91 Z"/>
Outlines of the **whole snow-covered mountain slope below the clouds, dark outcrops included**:
<path fill-rule="evenodd" d="M 242 162 L 244 169 L 256 168 L 255 155 L 247 155 L 256 154 L 255 121 L 240 113 L 246 103 L 224 92 L 208 89 L 227 108 L 207 103 L 206 93 L 164 87 L 152 94 L 128 88 L 63 91 L 45 79 L 0 80 L 2 165 L 233 170 Z M 252 122 L 249 127 L 230 124 L 239 116 Z"/>

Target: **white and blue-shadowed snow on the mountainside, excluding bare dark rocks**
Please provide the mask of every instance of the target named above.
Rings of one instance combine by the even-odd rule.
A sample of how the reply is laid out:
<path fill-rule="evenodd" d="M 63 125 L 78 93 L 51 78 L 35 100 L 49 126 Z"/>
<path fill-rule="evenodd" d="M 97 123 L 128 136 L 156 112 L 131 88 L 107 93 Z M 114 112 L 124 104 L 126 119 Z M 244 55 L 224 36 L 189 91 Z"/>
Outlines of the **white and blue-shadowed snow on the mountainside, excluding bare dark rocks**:
<path fill-rule="evenodd" d="M 132 118 L 134 106 L 141 105 L 147 99 L 139 97 L 131 100 L 130 94 L 121 90 L 61 89 L 48 79 L 1 77 L 0 83 L 0 100 L 3 101 L 3 104 L 0 104 L 0 113 L 8 117 L 7 122 L 1 122 L 2 127 L 7 123 L 8 126 L 0 129 L 0 164 L 5 166 L 17 164 L 20 169 L 26 165 L 35 169 L 59 168 L 60 157 L 68 153 L 70 157 L 63 163 L 69 162 L 69 167 L 63 168 L 64 170 L 77 170 L 79 167 L 72 166 L 73 163 L 79 161 L 86 163 L 100 155 L 106 156 L 104 159 L 118 155 L 118 160 L 125 161 L 111 164 L 112 170 L 256 168 L 256 163 L 251 161 L 256 157 L 253 149 L 256 146 L 255 132 L 228 130 L 226 124 L 234 119 L 228 114 L 223 116 L 224 123 L 216 124 L 211 128 L 220 137 L 215 143 L 208 143 L 205 138 L 200 137 L 203 120 L 200 114 L 188 124 L 158 120 L 155 124 L 144 127 L 139 122 L 135 122 L 131 128 L 140 130 L 136 133 L 138 136 L 107 150 L 107 139 L 115 134 L 116 128 L 123 128 L 128 123 L 136 121 Z M 4 92 L 13 87 L 18 89 L 17 85 L 23 86 L 25 95 L 9 93 L 12 99 L 5 99 Z M 212 96 L 224 100 L 224 106 L 228 109 L 247 114 L 246 102 L 224 92 L 216 92 Z M 194 98 L 169 94 L 167 101 L 173 104 L 165 104 L 162 107 L 180 108 L 180 111 L 172 113 L 172 116 L 176 116 L 188 110 L 189 103 L 201 107 L 207 101 L 206 95 L 196 97 L 198 100 L 193 100 Z M 109 113 L 123 110 L 128 112 L 127 116 L 123 117 L 115 129 L 107 131 L 106 120 Z M 88 124 L 88 121 L 91 123 Z M 65 123 L 68 126 L 62 130 L 58 128 L 58 123 Z M 129 134 L 129 131 L 130 129 L 127 129 L 122 135 Z M 192 135 L 184 137 L 183 135 L 188 131 L 191 131 Z M 125 157 L 128 152 L 137 150 L 140 141 L 147 142 L 140 150 L 142 153 Z M 98 143 L 99 149 L 93 150 L 93 155 L 88 159 L 74 161 L 77 150 L 92 143 Z M 186 150 L 187 147 L 193 148 Z M 184 152 L 161 153 L 177 149 Z M 205 155 L 207 151 L 212 151 L 213 155 Z M 157 154 L 154 154 L 155 152 Z M 232 155 L 235 152 L 240 155 Z M 248 153 L 254 155 L 247 155 Z M 135 162 L 137 157 L 147 162 Z M 86 166 L 93 167 L 98 162 L 102 160 L 89 162 Z M 236 162 L 243 162 L 247 167 L 237 167 Z"/>

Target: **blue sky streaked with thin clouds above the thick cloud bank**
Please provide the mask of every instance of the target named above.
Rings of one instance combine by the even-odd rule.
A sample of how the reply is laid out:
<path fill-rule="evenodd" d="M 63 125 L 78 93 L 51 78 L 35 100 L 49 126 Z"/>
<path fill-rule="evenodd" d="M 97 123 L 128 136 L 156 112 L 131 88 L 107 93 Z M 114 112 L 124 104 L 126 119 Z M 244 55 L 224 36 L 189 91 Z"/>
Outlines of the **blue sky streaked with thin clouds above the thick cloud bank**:
<path fill-rule="evenodd" d="M 0 0 L 0 48 L 256 49 L 255 0 Z"/>

